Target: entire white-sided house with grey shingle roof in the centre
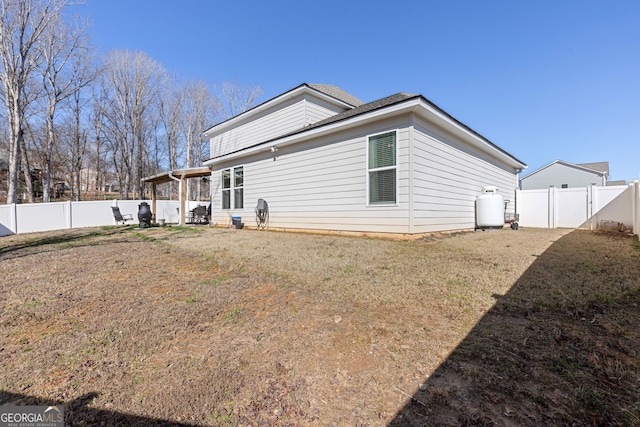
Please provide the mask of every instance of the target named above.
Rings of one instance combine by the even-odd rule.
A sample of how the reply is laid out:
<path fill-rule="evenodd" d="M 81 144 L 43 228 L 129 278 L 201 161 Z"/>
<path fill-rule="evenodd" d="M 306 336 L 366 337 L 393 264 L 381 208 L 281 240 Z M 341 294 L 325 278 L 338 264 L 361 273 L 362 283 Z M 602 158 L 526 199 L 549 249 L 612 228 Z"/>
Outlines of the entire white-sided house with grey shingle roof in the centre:
<path fill-rule="evenodd" d="M 212 222 L 419 234 L 475 228 L 475 201 L 498 187 L 513 212 L 526 165 L 421 95 L 363 103 L 302 84 L 205 132 Z"/>

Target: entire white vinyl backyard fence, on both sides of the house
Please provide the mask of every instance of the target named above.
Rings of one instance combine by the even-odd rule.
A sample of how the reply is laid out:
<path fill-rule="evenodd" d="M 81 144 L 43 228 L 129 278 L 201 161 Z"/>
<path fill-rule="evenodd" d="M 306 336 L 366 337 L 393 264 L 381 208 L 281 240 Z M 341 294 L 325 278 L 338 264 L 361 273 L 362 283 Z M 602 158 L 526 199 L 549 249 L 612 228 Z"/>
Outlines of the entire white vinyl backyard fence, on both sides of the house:
<path fill-rule="evenodd" d="M 137 222 L 138 205 L 149 200 L 99 200 L 0 205 L 0 237 L 38 231 L 115 225 L 112 206 Z M 187 201 L 186 209 L 198 205 Z M 156 220 L 178 223 L 180 202 L 156 201 Z M 603 223 L 640 230 L 640 183 L 628 186 L 516 190 L 519 225 L 532 228 L 598 229 Z"/>

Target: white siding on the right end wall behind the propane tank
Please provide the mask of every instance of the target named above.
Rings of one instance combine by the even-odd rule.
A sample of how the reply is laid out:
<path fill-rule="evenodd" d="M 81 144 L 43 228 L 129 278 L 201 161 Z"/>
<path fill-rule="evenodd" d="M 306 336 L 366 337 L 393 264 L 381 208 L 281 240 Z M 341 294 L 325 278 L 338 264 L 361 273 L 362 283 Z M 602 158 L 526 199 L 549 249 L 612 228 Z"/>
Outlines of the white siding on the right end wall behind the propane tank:
<path fill-rule="evenodd" d="M 513 212 L 516 175 L 486 154 L 421 123 L 414 130 L 414 233 L 475 228 L 475 201 L 498 187 Z"/>

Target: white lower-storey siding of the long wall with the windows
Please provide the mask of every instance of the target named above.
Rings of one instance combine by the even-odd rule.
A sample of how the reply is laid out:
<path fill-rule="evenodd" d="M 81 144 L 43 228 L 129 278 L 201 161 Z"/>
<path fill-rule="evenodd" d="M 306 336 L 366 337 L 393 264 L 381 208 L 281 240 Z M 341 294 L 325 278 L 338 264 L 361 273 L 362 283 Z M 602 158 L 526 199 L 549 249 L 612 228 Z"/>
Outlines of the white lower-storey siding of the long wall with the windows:
<path fill-rule="evenodd" d="M 246 159 L 247 216 L 242 221 L 255 225 L 253 209 L 263 198 L 269 203 L 269 225 L 274 228 L 406 233 L 408 131 L 406 118 L 399 120 L 282 147 L 275 156 L 261 153 Z M 371 209 L 367 207 L 367 136 L 388 129 L 398 129 L 397 201 L 385 209 Z M 213 197 L 219 198 L 220 192 L 214 190 Z M 212 215 L 214 223 L 226 224 L 230 218 L 229 212 Z"/>

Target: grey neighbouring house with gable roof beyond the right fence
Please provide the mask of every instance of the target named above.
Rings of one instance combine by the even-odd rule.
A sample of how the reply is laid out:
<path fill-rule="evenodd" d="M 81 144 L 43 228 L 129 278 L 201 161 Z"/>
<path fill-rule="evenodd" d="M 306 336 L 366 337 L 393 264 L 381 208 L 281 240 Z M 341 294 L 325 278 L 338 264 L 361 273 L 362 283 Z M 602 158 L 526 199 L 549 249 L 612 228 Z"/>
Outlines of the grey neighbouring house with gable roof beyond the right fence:
<path fill-rule="evenodd" d="M 609 176 L 609 162 L 573 164 L 556 160 L 520 179 L 520 188 L 575 188 L 590 185 L 605 186 Z"/>

